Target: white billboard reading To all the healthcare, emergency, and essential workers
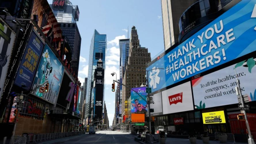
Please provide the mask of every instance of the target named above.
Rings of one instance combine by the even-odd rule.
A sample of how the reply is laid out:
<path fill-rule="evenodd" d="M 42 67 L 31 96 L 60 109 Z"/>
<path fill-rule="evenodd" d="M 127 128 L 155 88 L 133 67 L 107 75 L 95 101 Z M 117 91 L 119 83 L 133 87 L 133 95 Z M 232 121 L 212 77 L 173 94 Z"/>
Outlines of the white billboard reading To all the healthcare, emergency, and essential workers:
<path fill-rule="evenodd" d="M 256 100 L 256 58 L 249 58 L 211 74 L 192 80 L 194 102 L 197 109 L 238 103 L 235 87 L 236 72 L 243 95 L 249 101 Z"/>

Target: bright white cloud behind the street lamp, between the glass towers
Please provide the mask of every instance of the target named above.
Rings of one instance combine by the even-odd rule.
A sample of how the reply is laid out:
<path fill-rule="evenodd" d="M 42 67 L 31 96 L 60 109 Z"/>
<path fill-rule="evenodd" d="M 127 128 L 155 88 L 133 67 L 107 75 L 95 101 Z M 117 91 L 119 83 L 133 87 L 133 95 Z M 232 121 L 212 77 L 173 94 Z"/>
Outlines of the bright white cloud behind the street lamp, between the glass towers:
<path fill-rule="evenodd" d="M 115 80 L 115 75 L 112 76 L 111 73 L 115 72 L 117 74 L 117 79 L 119 78 L 119 68 L 116 66 L 108 66 L 106 65 L 106 70 L 105 70 L 105 84 L 112 84 L 113 80 Z M 117 86 L 117 84 L 116 84 Z M 108 87 L 108 86 L 105 86 Z"/>

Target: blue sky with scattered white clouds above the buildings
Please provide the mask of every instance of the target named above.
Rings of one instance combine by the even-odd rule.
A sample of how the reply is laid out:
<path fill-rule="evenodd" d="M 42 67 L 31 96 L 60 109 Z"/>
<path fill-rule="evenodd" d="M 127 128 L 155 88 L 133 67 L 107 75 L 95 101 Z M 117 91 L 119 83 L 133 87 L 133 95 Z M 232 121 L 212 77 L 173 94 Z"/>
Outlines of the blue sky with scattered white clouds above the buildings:
<path fill-rule="evenodd" d="M 151 58 L 164 50 L 162 11 L 160 0 L 70 0 L 78 5 L 80 16 L 77 22 L 82 38 L 79 80 L 83 83 L 88 74 L 88 58 L 94 29 L 100 34 L 107 35 L 107 54 L 105 72 L 105 102 L 112 125 L 115 114 L 115 92 L 111 92 L 114 77 L 119 77 L 119 45 L 118 40 L 127 38 L 131 27 L 137 29 L 140 44 L 148 48 Z M 48 0 L 51 4 L 52 0 Z"/>

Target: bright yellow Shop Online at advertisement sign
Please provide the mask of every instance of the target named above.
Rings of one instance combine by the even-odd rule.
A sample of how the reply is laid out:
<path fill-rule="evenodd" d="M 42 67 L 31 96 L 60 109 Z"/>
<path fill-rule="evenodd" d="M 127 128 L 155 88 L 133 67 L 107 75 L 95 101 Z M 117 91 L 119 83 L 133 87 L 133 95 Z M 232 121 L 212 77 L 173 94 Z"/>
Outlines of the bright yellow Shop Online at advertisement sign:
<path fill-rule="evenodd" d="M 204 124 L 226 123 L 224 111 L 202 113 Z"/>

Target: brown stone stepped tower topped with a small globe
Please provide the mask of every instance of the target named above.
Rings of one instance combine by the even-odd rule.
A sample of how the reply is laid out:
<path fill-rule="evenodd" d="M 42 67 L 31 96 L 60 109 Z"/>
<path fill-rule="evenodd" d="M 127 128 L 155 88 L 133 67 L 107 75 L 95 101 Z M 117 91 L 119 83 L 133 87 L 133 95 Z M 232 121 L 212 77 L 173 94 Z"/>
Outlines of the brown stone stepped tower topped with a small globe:
<path fill-rule="evenodd" d="M 126 65 L 123 84 L 134 88 L 145 82 L 146 66 L 151 61 L 147 48 L 140 47 L 137 30 L 132 26 L 129 58 Z M 124 112 L 124 101 L 131 95 L 131 90 L 123 87 L 122 91 L 122 113 Z"/>

